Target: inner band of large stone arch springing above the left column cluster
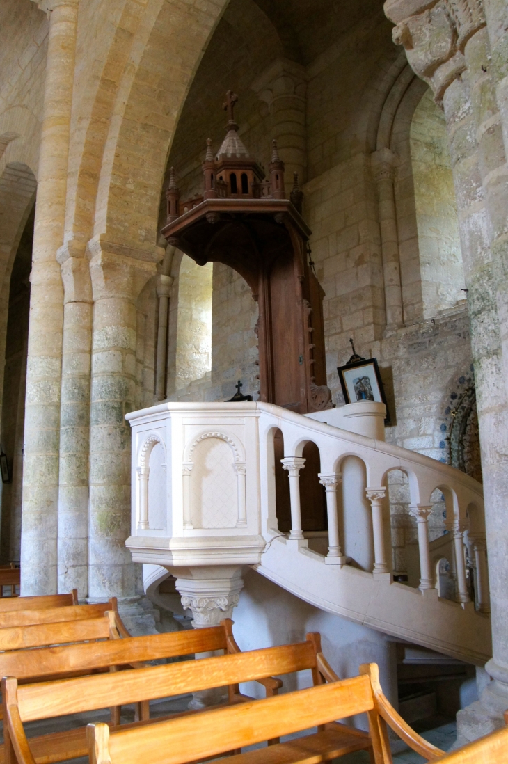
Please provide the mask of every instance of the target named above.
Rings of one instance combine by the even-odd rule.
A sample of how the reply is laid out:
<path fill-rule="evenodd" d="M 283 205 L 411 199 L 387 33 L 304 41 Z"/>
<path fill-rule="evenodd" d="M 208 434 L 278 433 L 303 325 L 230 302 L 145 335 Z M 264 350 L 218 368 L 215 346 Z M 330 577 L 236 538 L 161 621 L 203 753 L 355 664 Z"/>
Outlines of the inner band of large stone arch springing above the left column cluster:
<path fill-rule="evenodd" d="M 109 241 L 154 252 L 167 153 L 189 85 L 226 4 L 147 2 L 112 107 L 95 235 L 107 233 Z"/>

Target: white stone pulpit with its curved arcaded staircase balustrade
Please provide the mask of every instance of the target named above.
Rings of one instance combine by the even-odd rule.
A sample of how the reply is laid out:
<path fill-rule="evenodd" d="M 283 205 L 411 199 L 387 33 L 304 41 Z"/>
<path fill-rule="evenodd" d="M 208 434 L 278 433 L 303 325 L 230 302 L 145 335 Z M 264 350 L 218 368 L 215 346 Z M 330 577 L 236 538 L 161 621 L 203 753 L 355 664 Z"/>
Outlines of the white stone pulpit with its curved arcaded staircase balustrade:
<path fill-rule="evenodd" d="M 176 578 L 183 571 L 189 575 L 189 570 L 218 568 L 229 575 L 248 565 L 315 607 L 484 665 L 491 641 L 480 484 L 432 458 L 348 432 L 343 411 L 302 416 L 268 403 L 161 403 L 129 414 L 133 490 L 127 545 L 134 562 L 151 566 L 147 587 L 157 588 L 168 570 Z M 273 444 L 279 431 L 290 483 L 290 533 L 277 525 Z M 305 469 L 302 454 L 308 442 L 319 448 L 321 467 L 315 477 L 326 490 L 326 555 L 310 548 L 302 531 L 299 473 Z M 351 458 L 361 465 L 362 490 L 370 503 L 370 526 L 364 533 L 373 552 L 371 570 L 346 557 L 339 538 L 341 514 L 353 496 L 348 493 L 351 471 L 344 471 L 341 484 L 341 470 Z M 419 588 L 393 581 L 390 572 L 387 478 L 392 470 L 403 471 L 409 481 L 410 511 L 418 527 Z M 436 588 L 427 527 L 436 488 L 445 497 L 457 601 L 439 597 Z M 474 550 L 476 603 L 469 600 L 466 585 L 465 531 Z"/>

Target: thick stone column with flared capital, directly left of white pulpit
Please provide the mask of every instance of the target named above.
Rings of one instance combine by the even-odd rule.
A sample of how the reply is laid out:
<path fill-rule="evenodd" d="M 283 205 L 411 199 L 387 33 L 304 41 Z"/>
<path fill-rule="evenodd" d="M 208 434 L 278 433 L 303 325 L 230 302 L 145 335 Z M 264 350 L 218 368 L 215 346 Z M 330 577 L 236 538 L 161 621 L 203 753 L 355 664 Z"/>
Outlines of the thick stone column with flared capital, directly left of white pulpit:
<path fill-rule="evenodd" d="M 134 597 L 131 529 L 131 432 L 136 302 L 155 275 L 154 251 L 97 237 L 89 242 L 94 299 L 90 402 L 89 599 Z M 141 259 L 143 258 L 143 259 Z M 150 262 L 151 260 L 151 262 Z"/>

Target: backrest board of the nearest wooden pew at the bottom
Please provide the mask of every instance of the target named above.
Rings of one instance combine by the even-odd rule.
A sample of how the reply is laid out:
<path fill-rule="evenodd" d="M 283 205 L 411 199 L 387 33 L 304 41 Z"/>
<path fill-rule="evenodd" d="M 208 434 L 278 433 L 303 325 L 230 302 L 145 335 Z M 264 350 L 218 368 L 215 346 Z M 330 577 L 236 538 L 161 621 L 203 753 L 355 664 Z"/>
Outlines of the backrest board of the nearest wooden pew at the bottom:
<path fill-rule="evenodd" d="M 200 714 L 199 723 L 193 716 L 180 717 L 138 729 L 115 730 L 111 737 L 107 725 L 96 725 L 106 744 L 99 742 L 95 756 L 97 764 L 183 764 L 362 714 L 373 707 L 370 681 L 367 676 L 358 676 L 208 711 Z"/>

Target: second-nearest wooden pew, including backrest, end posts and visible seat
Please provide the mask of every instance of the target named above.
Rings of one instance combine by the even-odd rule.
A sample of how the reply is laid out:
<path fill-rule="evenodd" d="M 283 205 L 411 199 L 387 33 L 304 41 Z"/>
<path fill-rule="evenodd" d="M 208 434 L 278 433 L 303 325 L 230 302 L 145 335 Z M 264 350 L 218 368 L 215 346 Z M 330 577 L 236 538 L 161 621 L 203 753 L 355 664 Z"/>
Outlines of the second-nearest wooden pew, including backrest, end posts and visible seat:
<path fill-rule="evenodd" d="M 231 622 L 229 622 L 231 623 Z M 199 639 L 205 630 L 186 632 Z M 172 635 L 161 635 L 161 637 Z M 180 635 L 179 635 L 180 636 Z M 161 639 L 156 637 L 155 639 Z M 141 639 L 150 640 L 153 637 Z M 140 639 L 132 638 L 130 643 Z M 228 640 L 229 643 L 230 640 Z M 114 643 L 113 647 L 118 646 Z M 119 643 L 121 647 L 121 642 Z M 193 647 L 196 652 L 204 652 L 203 645 Z M 101 648 L 102 649 L 102 648 Z M 106 649 L 112 649 L 111 645 Z M 145 653 L 146 654 L 146 653 Z M 150 653 L 149 653 L 150 654 Z M 153 654 L 153 653 L 152 653 Z M 139 656 L 138 656 L 139 657 Z M 135 671 L 116 672 L 112 674 L 93 675 L 84 678 L 64 679 L 57 682 L 41 682 L 40 684 L 18 685 L 14 678 L 5 678 L 2 682 L 5 713 L 5 762 L 17 760 L 19 764 L 50 764 L 50 762 L 86 756 L 86 730 L 72 730 L 40 737 L 37 740 L 27 740 L 24 733 L 24 723 L 66 714 L 94 711 L 112 705 L 141 704 L 145 707 L 147 701 L 155 698 L 167 698 L 171 695 L 189 694 L 193 691 L 206 690 L 216 687 L 229 688 L 228 702 L 230 705 L 243 706 L 251 703 L 252 698 L 240 694 L 238 684 L 244 681 L 262 681 L 265 686 L 270 680 L 273 697 L 277 697 L 280 680 L 274 680 L 273 675 L 283 675 L 290 672 L 311 669 L 316 685 L 325 681 L 327 676 L 336 680 L 336 675 L 328 666 L 319 648 L 319 634 L 309 634 L 307 641 L 296 645 L 284 645 L 252 652 L 237 652 L 225 656 L 171 663 L 169 665 L 150 666 Z M 367 679 L 368 683 L 368 679 Z M 193 735 L 196 729 L 201 736 L 202 717 L 211 711 L 201 712 L 199 722 L 193 720 Z M 395 712 L 394 712 L 395 713 Z M 176 714 L 186 717 L 196 712 Z M 173 715 L 174 716 L 174 715 Z M 162 720 L 150 722 L 146 719 L 134 724 L 122 724 L 112 727 L 112 730 L 134 729 L 150 725 L 150 729 L 158 728 Z M 197 726 L 196 726 L 197 725 Z M 301 729 L 301 727 L 299 727 Z M 157 733 L 156 733 L 157 736 Z M 276 739 L 277 735 L 268 734 L 264 740 Z M 332 759 L 341 753 L 354 750 L 370 749 L 371 741 L 367 733 L 354 730 L 342 725 L 335 725 L 331 730 L 322 730 L 317 738 L 322 760 Z M 422 741 L 423 746 L 429 746 Z M 270 746 L 276 749 L 280 744 Z M 231 751 L 236 745 L 228 745 L 225 750 Z M 430 746 L 433 749 L 433 746 Z M 437 750 L 437 749 L 435 749 Z M 439 752 L 442 753 L 442 752 Z M 318 759 L 316 759 L 317 761 Z M 141 757 L 138 761 L 150 761 L 149 757 Z"/>

